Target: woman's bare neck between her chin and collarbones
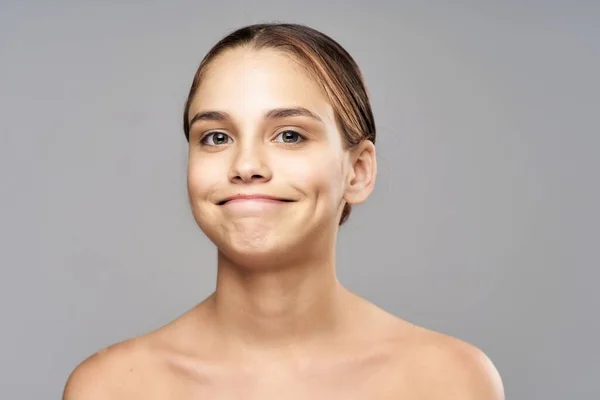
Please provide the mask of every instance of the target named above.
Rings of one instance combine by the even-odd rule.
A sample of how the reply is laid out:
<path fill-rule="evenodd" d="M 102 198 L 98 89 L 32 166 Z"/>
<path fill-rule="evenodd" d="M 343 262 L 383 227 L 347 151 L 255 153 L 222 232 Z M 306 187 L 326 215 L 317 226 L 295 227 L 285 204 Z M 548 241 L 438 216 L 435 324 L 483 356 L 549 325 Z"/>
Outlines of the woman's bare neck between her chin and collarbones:
<path fill-rule="evenodd" d="M 245 349 L 291 349 L 344 329 L 351 294 L 336 278 L 334 256 L 261 271 L 219 254 L 217 289 L 210 298 L 219 335 Z"/>

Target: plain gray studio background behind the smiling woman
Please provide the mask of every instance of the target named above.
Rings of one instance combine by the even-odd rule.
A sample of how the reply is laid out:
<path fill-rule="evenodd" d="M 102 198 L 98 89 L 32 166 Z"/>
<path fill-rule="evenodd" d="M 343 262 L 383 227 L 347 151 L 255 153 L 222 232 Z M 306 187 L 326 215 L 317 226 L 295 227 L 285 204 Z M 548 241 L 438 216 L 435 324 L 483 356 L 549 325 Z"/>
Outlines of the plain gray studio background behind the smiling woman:
<path fill-rule="evenodd" d="M 59 398 L 213 290 L 181 111 L 212 44 L 273 20 L 338 40 L 372 95 L 340 280 L 479 346 L 507 398 L 600 397 L 598 2 L 87 3 L 1 3 L 1 399 Z"/>

